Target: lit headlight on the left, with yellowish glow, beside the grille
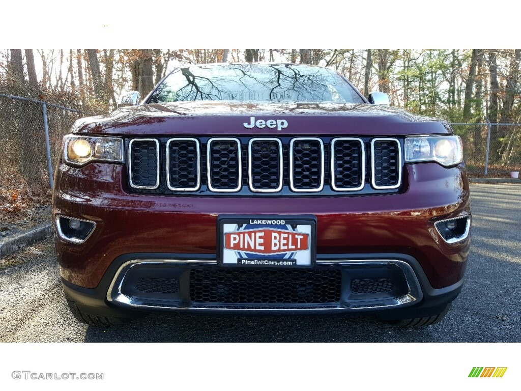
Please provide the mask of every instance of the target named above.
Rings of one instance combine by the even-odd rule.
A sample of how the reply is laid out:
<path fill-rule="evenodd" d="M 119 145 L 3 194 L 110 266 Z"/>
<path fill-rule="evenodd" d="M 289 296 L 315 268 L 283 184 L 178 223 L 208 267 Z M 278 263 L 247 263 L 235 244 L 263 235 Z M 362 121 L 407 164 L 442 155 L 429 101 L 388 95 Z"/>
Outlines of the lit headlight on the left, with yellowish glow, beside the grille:
<path fill-rule="evenodd" d="M 63 157 L 71 165 L 90 162 L 123 163 L 123 140 L 117 137 L 64 137 Z"/>

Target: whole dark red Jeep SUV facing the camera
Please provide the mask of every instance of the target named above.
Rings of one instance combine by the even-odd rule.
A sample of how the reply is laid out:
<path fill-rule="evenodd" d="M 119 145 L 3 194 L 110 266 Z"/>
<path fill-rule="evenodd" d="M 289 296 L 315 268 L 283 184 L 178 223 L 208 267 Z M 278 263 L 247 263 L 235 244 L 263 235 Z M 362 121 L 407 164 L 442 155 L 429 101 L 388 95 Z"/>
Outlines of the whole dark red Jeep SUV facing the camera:
<path fill-rule="evenodd" d="M 301 64 L 181 67 L 141 104 L 77 120 L 53 204 L 67 301 L 96 325 L 152 311 L 429 325 L 470 245 L 450 126 Z"/>

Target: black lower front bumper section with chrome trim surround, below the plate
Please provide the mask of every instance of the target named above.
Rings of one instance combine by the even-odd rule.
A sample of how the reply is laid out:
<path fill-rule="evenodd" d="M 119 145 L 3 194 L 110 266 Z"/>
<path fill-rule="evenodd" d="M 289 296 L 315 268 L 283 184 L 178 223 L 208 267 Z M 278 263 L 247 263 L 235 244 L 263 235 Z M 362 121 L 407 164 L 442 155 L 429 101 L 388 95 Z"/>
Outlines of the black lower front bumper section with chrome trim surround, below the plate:
<path fill-rule="evenodd" d="M 339 254 L 317 259 L 312 269 L 291 272 L 230 268 L 223 271 L 209 257 L 194 258 L 196 254 L 127 254 L 110 265 L 98 287 L 82 288 L 64 279 L 63 286 L 67 297 L 76 301 L 80 309 L 98 316 L 132 316 L 139 311 L 254 314 L 378 311 L 383 316 L 386 313 L 396 316 L 398 311 L 407 317 L 408 313 L 436 314 L 459 294 L 463 284 L 461 280 L 443 289 L 432 288 L 419 263 L 405 254 Z M 206 280 L 203 288 L 203 279 L 198 277 L 201 272 L 217 274 L 218 282 Z M 292 278 L 288 273 L 306 276 Z M 328 284 L 319 284 L 326 273 L 330 278 Z M 230 278 L 222 278 L 223 274 Z M 249 276 L 244 277 L 245 274 Z M 333 275 L 338 277 L 337 286 L 332 283 Z M 148 288 L 140 287 L 143 280 L 147 280 Z M 155 285 L 150 285 L 152 280 Z M 241 292 L 241 283 L 247 283 L 247 292 L 245 289 Z M 238 299 L 241 295 L 243 300 Z"/>

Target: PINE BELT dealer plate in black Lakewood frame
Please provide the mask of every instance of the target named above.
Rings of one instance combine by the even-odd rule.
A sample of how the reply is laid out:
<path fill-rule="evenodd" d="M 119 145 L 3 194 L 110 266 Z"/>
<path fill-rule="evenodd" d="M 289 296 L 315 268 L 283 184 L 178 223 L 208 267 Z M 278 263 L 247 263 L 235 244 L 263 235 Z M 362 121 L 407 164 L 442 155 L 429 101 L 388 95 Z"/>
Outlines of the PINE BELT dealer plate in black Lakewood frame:
<path fill-rule="evenodd" d="M 219 216 L 219 264 L 305 267 L 315 264 L 315 216 Z"/>

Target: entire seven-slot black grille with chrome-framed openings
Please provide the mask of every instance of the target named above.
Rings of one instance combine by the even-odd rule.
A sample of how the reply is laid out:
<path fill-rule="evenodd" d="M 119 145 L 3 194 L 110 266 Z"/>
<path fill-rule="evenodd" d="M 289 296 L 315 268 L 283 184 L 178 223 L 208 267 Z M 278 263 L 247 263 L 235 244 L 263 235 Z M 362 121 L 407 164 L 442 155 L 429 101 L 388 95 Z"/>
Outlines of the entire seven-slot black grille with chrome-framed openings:
<path fill-rule="evenodd" d="M 159 193 L 330 194 L 398 189 L 402 180 L 394 138 L 179 137 L 132 139 L 128 148 L 130 187 Z"/>

